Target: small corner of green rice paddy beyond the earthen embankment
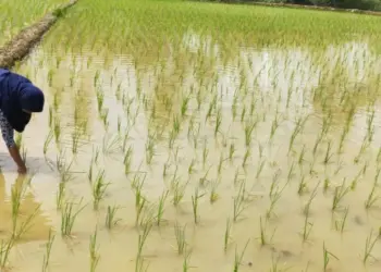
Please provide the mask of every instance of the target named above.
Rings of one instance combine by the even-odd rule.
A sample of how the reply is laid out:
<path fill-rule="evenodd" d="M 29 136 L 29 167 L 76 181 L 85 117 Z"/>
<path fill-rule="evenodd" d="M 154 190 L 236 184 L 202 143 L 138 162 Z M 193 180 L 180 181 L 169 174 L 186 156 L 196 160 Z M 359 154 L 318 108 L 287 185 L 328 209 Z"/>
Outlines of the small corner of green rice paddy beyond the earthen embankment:
<path fill-rule="evenodd" d="M 65 2 L 64 0 L 1 0 L 0 47 L 23 27 L 30 25 L 48 11 Z"/>

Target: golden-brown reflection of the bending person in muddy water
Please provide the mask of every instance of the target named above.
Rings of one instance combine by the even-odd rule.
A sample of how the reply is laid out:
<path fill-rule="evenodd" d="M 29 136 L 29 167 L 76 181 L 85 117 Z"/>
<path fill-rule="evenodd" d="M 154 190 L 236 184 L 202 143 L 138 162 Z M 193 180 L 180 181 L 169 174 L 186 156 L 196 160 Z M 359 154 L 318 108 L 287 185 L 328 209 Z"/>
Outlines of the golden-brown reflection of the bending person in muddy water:
<path fill-rule="evenodd" d="M 24 176 L 19 176 L 12 185 L 13 189 L 23 190 L 21 199 L 21 210 L 17 217 L 17 228 L 25 223 L 25 220 L 32 217 L 32 221 L 26 228 L 26 232 L 21 236 L 22 242 L 42 240 L 49 236 L 49 222 L 40 210 L 40 203 L 35 199 L 32 191 L 26 191 L 27 186 Z M 2 235 L 11 235 L 12 225 L 12 201 L 8 200 L 5 194 L 5 180 L 0 174 L 0 238 L 5 238 Z"/>

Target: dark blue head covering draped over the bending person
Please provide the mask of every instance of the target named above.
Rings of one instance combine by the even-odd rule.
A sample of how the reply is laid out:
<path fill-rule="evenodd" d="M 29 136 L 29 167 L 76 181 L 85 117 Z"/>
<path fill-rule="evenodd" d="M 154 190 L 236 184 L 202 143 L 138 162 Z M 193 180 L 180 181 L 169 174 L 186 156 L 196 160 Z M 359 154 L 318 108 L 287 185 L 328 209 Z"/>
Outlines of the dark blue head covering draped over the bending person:
<path fill-rule="evenodd" d="M 13 129 L 23 132 L 30 113 L 44 110 L 44 92 L 26 77 L 0 69 L 0 110 Z"/>

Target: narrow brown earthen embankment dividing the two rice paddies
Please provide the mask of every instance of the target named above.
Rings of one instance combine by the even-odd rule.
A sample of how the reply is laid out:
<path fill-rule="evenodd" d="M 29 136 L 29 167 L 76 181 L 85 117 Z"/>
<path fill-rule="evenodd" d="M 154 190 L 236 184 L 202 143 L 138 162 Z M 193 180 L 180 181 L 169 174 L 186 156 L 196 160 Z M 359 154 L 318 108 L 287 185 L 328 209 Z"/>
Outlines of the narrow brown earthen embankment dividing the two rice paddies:
<path fill-rule="evenodd" d="M 48 13 L 37 23 L 22 29 L 3 48 L 0 48 L 0 67 L 11 69 L 17 61 L 24 59 L 57 20 L 59 20 L 65 11 L 77 1 L 78 0 L 72 0 Z"/>

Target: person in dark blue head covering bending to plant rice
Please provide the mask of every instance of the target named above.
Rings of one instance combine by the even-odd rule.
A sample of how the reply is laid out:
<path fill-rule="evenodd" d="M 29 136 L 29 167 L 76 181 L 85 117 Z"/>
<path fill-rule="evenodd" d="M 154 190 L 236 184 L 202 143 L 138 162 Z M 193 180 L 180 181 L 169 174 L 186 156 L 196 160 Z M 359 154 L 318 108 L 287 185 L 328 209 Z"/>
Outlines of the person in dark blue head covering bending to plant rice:
<path fill-rule="evenodd" d="M 32 113 L 41 112 L 44 103 L 44 92 L 29 79 L 0 69 L 0 128 L 20 174 L 26 174 L 26 166 L 14 143 L 13 129 L 24 132 Z"/>

